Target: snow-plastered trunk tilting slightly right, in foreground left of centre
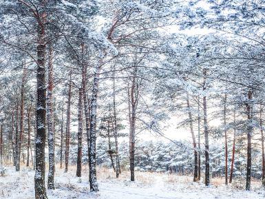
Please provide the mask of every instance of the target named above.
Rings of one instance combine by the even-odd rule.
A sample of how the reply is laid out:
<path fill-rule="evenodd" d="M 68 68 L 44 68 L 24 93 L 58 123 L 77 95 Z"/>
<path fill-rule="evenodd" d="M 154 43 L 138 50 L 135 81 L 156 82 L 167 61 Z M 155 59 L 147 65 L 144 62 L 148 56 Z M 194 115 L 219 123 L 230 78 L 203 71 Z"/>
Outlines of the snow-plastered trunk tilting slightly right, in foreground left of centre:
<path fill-rule="evenodd" d="M 90 191 L 98 191 L 98 182 L 96 180 L 96 108 L 98 99 L 98 77 L 100 66 L 96 66 L 94 81 L 92 85 L 92 99 L 90 103 L 90 143 L 89 143 L 89 182 Z"/>

